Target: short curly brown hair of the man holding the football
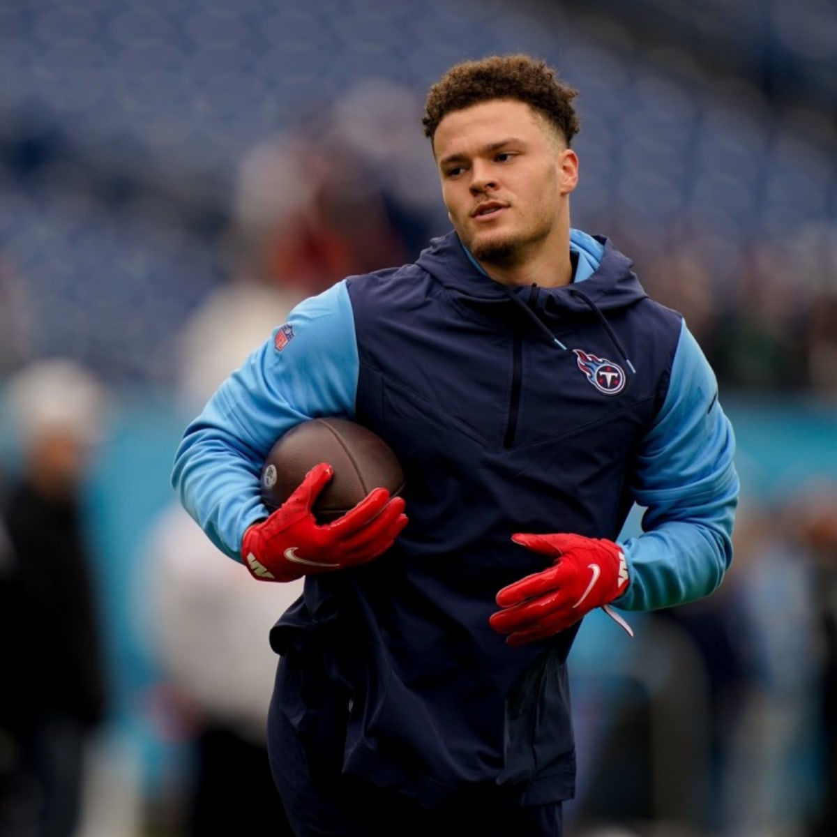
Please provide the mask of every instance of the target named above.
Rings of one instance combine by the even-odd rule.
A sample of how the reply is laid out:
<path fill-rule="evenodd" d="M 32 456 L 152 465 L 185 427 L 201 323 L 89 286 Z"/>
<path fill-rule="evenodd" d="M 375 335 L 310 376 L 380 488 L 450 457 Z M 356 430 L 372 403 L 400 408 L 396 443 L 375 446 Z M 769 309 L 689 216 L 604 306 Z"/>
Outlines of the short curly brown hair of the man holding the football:
<path fill-rule="evenodd" d="M 528 55 L 490 55 L 454 64 L 428 91 L 422 125 L 432 142 L 445 116 L 496 99 L 515 99 L 537 110 L 567 142 L 581 123 L 573 107 L 578 90 L 565 84 L 545 61 Z"/>

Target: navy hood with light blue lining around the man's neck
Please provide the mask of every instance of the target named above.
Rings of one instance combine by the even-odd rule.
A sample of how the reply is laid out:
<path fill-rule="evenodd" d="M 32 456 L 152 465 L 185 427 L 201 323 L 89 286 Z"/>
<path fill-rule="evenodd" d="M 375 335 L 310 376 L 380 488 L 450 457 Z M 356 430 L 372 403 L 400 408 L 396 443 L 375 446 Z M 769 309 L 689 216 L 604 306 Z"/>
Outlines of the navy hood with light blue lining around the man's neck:
<path fill-rule="evenodd" d="M 507 305 L 514 294 L 547 320 L 560 313 L 589 315 L 591 303 L 600 311 L 613 311 L 646 296 L 631 270 L 633 262 L 609 239 L 573 229 L 570 251 L 576 262 L 573 283 L 557 288 L 539 287 L 535 295 L 529 285 L 506 286 L 492 280 L 453 231 L 433 239 L 419 254 L 417 263 L 470 306 Z"/>

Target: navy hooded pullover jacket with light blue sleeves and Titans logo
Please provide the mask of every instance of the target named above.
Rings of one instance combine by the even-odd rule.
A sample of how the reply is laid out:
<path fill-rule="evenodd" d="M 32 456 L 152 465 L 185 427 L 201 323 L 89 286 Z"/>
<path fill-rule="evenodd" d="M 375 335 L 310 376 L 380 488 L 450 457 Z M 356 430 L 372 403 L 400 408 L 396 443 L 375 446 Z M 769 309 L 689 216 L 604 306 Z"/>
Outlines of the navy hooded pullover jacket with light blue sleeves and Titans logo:
<path fill-rule="evenodd" d="M 348 277 L 297 306 L 187 428 L 173 484 L 239 561 L 267 514 L 264 457 L 295 424 L 356 420 L 403 464 L 395 546 L 306 578 L 270 635 L 285 669 L 271 711 L 311 764 L 431 808 L 480 788 L 570 798 L 578 624 L 516 648 L 490 629 L 496 593 L 551 564 L 511 535 L 614 540 L 637 503 L 616 607 L 721 583 L 738 480 L 711 368 L 608 239 L 573 230 L 571 251 L 573 283 L 555 288 L 490 280 L 453 233 L 415 264 Z"/>

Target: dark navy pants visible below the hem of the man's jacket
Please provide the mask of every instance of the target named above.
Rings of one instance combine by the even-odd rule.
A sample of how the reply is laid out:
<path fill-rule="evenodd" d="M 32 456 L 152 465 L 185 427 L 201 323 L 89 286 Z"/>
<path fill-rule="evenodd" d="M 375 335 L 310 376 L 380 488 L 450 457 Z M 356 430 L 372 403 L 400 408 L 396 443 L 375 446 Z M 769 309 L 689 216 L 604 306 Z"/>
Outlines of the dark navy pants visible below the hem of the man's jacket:
<path fill-rule="evenodd" d="M 277 686 L 280 678 L 281 672 Z M 278 691 L 277 688 L 275 696 Z M 561 803 L 498 808 L 470 801 L 431 813 L 419 804 L 356 778 L 311 778 L 305 749 L 275 696 L 269 722 L 270 768 L 296 837 L 562 835 Z"/>

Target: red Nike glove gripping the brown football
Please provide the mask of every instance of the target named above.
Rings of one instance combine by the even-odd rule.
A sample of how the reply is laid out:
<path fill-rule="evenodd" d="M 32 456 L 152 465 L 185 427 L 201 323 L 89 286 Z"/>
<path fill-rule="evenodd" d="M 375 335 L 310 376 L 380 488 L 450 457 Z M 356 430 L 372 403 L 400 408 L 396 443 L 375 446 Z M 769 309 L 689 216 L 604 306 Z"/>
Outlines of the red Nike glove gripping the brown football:
<path fill-rule="evenodd" d="M 357 567 L 393 545 L 407 525 L 404 501 L 376 488 L 345 515 L 320 526 L 311 506 L 331 480 L 331 465 L 315 465 L 299 488 L 266 520 L 244 532 L 241 554 L 260 581 L 292 581 L 308 573 Z"/>

